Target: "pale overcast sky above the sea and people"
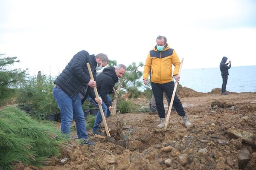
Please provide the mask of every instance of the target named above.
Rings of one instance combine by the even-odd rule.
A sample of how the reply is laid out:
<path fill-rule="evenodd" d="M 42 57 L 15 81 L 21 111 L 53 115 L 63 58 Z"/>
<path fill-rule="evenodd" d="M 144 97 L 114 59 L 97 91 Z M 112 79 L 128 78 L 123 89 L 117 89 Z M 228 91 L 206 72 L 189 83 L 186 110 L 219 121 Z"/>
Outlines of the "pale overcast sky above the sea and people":
<path fill-rule="evenodd" d="M 79 51 L 143 62 L 158 35 L 183 69 L 256 65 L 255 0 L 0 0 L 0 54 L 58 75 Z"/>

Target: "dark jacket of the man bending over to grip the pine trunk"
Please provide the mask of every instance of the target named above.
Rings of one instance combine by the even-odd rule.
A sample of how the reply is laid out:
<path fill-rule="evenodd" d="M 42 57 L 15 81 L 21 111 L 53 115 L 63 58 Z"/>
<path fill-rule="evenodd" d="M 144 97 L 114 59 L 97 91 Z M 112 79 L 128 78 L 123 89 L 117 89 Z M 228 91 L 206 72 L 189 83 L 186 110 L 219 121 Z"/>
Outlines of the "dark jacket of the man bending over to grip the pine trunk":
<path fill-rule="evenodd" d="M 98 93 L 103 102 L 107 107 L 111 106 L 111 103 L 108 102 L 107 95 L 113 90 L 115 83 L 118 82 L 115 68 L 104 68 L 102 73 L 97 75 L 96 82 Z"/>

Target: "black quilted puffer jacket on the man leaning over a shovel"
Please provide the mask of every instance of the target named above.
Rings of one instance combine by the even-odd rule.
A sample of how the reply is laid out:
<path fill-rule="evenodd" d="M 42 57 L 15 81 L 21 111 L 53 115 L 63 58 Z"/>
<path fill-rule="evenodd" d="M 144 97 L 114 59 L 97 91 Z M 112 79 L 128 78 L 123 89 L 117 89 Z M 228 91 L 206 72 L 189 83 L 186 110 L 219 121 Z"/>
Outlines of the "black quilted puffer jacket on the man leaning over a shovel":
<path fill-rule="evenodd" d="M 71 59 L 62 73 L 55 79 L 54 84 L 57 84 L 70 97 L 78 94 L 82 87 L 90 81 L 90 74 L 87 68 L 87 62 L 90 63 L 90 68 L 93 72 L 93 77 L 96 77 L 97 62 L 94 55 L 90 55 L 87 51 L 80 51 Z M 88 87 L 87 92 L 89 93 Z M 90 95 L 91 96 L 91 95 Z M 93 95 L 95 98 L 95 94 Z M 93 99 L 94 99 L 93 98 Z"/>

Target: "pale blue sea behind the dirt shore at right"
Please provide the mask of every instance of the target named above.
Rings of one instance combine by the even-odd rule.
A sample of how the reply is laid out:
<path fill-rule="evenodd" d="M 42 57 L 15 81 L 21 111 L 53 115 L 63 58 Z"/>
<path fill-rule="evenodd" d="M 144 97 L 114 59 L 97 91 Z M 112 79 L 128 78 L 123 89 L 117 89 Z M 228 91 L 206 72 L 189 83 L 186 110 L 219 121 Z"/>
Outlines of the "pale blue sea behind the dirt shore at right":
<path fill-rule="evenodd" d="M 226 90 L 230 92 L 256 92 L 256 65 L 240 66 L 229 69 Z M 180 85 L 198 92 L 210 92 L 221 88 L 220 68 L 183 69 Z"/>

